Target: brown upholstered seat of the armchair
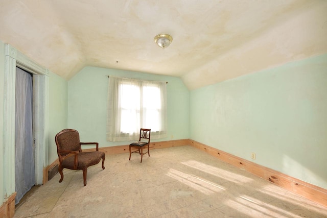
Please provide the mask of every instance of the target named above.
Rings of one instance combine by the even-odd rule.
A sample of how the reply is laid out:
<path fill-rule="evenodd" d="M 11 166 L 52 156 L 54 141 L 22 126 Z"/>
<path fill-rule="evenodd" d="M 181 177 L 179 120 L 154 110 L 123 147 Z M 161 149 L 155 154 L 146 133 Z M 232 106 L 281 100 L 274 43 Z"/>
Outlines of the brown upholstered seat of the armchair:
<path fill-rule="evenodd" d="M 104 152 L 82 152 L 77 155 L 77 169 L 85 169 L 88 166 L 96 165 L 100 162 L 101 158 L 105 155 Z M 62 166 L 68 169 L 74 169 L 74 155 L 65 158 L 62 161 Z"/>

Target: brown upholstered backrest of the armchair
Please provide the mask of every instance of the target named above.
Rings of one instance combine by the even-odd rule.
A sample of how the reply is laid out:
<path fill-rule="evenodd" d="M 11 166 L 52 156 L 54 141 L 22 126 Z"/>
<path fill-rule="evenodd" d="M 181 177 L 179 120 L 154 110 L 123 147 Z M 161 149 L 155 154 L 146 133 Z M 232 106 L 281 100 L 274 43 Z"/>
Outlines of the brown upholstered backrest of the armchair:
<path fill-rule="evenodd" d="M 58 150 L 82 151 L 80 135 L 77 130 L 64 129 L 56 135 L 55 141 L 57 144 L 57 152 Z M 61 156 L 66 156 L 67 154 L 68 153 L 60 153 Z"/>

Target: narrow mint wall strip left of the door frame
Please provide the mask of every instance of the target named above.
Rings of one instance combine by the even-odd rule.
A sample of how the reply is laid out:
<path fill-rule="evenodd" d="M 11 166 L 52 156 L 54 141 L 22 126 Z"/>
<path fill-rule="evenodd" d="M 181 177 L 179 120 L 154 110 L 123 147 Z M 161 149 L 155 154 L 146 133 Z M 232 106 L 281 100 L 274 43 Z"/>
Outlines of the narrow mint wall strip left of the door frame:
<path fill-rule="evenodd" d="M 5 80 L 5 44 L 0 41 L 0 206 L 5 199 L 4 181 L 4 80 Z"/>

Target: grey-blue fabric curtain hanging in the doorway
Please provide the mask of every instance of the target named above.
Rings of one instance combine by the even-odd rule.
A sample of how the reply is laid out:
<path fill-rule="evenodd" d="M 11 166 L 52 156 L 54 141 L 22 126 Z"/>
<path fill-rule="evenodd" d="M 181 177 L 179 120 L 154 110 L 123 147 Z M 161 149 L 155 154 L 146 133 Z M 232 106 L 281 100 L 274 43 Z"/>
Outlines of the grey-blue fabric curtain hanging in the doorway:
<path fill-rule="evenodd" d="M 32 105 L 32 76 L 16 67 L 15 204 L 35 185 Z"/>

